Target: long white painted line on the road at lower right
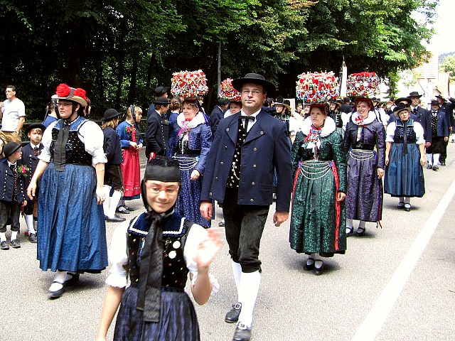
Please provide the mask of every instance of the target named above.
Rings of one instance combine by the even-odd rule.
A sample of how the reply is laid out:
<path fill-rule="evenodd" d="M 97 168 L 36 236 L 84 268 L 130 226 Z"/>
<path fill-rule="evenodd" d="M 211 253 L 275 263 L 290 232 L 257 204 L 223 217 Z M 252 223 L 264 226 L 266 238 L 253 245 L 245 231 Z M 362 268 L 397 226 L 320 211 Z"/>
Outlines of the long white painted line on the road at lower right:
<path fill-rule="evenodd" d="M 438 227 L 439 222 L 454 195 L 455 181 L 444 194 L 444 197 L 442 197 L 439 205 L 437 205 L 427 222 L 425 222 L 422 231 L 414 240 L 414 243 L 407 251 L 405 257 L 400 262 L 400 265 L 398 265 L 392 278 L 390 278 L 387 286 L 385 286 L 378 300 L 375 302 L 375 305 L 373 305 L 370 313 L 368 313 L 365 320 L 363 320 L 362 325 L 360 325 L 360 328 L 355 333 L 352 341 L 375 340 L 375 337 L 382 329 L 382 325 L 385 323 L 390 311 L 394 307 L 398 296 L 400 296 L 412 270 L 414 270 L 422 252 L 427 247 L 429 240 L 432 239 L 434 231 Z"/>

